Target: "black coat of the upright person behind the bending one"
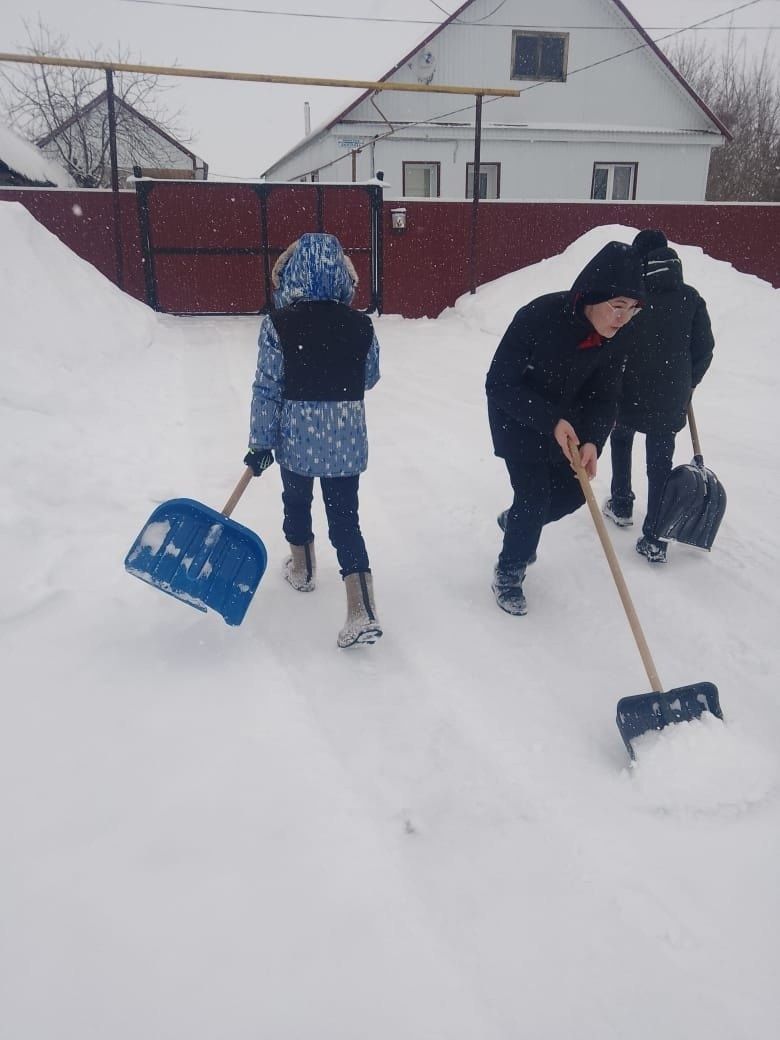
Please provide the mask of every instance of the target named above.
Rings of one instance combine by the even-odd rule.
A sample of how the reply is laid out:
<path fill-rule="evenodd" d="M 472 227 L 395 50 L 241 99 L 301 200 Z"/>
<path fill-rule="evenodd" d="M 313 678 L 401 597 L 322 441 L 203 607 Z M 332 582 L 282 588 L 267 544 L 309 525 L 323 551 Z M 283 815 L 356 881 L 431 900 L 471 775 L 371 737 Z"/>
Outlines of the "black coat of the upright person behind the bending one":
<path fill-rule="evenodd" d="M 646 259 L 647 305 L 625 331 L 626 370 L 618 421 L 643 434 L 677 432 L 712 360 L 707 306 L 682 281 L 679 257 L 670 249 Z"/>

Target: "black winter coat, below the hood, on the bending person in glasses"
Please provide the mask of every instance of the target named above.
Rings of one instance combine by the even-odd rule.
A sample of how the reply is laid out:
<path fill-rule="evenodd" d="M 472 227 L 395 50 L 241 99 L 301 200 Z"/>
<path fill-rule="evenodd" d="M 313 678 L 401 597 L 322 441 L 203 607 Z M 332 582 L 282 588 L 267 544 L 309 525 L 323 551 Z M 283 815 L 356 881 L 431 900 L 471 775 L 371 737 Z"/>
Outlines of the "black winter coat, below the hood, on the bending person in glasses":
<path fill-rule="evenodd" d="M 558 419 L 568 419 L 580 442 L 599 450 L 609 436 L 625 329 L 602 340 L 572 300 L 570 292 L 553 292 L 531 301 L 498 344 L 485 388 L 493 447 L 501 458 L 522 450 L 528 428 L 551 439 Z"/>

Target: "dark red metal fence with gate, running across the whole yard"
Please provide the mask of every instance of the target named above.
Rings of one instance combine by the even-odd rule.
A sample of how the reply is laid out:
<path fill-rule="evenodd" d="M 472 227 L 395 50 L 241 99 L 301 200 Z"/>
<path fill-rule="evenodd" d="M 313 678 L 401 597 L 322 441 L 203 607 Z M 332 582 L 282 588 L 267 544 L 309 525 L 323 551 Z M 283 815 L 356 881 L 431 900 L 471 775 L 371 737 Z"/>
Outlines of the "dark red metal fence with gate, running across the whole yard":
<path fill-rule="evenodd" d="M 150 185 L 144 187 L 142 185 Z M 434 317 L 471 284 L 470 202 L 408 200 L 391 228 L 370 185 L 141 182 L 119 194 L 123 287 L 175 313 L 257 313 L 270 268 L 307 231 L 341 240 L 360 275 L 356 306 Z M 0 188 L 75 253 L 116 281 L 110 191 Z M 146 211 L 145 211 L 146 207 Z M 674 241 L 780 286 L 780 205 L 503 203 L 478 207 L 477 284 L 554 256 L 606 224 L 662 228 Z M 145 263 L 145 253 L 151 262 Z"/>

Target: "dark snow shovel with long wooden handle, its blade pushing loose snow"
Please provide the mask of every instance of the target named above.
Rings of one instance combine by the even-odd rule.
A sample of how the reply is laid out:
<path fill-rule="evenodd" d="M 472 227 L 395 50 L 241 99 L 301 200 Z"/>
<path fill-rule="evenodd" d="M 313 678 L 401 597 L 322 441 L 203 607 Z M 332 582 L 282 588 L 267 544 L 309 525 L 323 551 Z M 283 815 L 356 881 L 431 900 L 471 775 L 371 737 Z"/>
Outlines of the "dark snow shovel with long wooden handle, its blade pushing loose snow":
<path fill-rule="evenodd" d="M 713 716 L 723 719 L 723 711 L 718 699 L 718 687 L 711 682 L 695 682 L 690 686 L 677 686 L 675 690 L 664 691 L 618 557 L 606 532 L 604 518 L 601 516 L 588 474 L 579 461 L 579 450 L 573 442 L 570 441 L 569 445 L 574 461 L 574 471 L 586 496 L 593 522 L 596 524 L 601 547 L 609 564 L 609 570 L 618 587 L 618 593 L 626 612 L 628 624 L 631 626 L 642 664 L 645 666 L 647 677 L 652 686 L 652 692 L 649 694 L 635 694 L 631 697 L 623 697 L 618 701 L 618 729 L 628 754 L 633 759 L 635 753 L 631 742 L 644 733 L 661 730 L 678 722 L 692 722 L 694 719 L 699 719 L 705 711 L 711 711 Z"/>

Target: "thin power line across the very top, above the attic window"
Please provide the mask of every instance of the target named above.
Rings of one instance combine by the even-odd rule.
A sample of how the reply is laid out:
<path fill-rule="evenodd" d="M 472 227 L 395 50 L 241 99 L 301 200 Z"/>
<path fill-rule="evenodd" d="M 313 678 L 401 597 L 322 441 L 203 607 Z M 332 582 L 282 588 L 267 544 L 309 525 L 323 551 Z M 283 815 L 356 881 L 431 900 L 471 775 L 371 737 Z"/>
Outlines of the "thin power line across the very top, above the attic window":
<path fill-rule="evenodd" d="M 433 2 L 433 0 L 432 0 Z M 761 2 L 761 0 L 755 0 L 755 2 Z M 187 0 L 120 0 L 120 3 L 132 3 L 140 4 L 146 7 L 181 7 L 187 10 L 207 10 L 216 11 L 218 14 L 228 15 L 260 15 L 268 18 L 302 18 L 302 19 L 313 19 L 317 21 L 324 22 L 368 22 L 368 23 L 379 23 L 382 25 L 431 25 L 440 26 L 443 25 L 441 21 L 435 19 L 422 19 L 422 18 L 382 18 L 378 16 L 369 15 L 322 15 L 312 11 L 303 10 L 271 10 L 269 8 L 262 7 L 229 7 L 220 4 L 206 4 L 206 3 L 189 3 Z M 439 6 L 436 4 L 435 6 Z M 499 7 L 502 4 L 499 4 Z M 746 6 L 750 7 L 751 4 Z M 444 12 L 444 8 L 439 8 Z M 740 8 L 733 8 L 733 10 L 738 10 Z M 721 15 L 716 15 L 714 19 L 725 18 L 726 15 L 730 15 L 733 11 L 724 11 Z M 449 17 L 449 16 L 448 16 Z M 489 17 L 489 16 L 486 16 Z M 713 21 L 710 19 L 709 21 Z M 462 29 L 550 29 L 561 31 L 562 29 L 576 30 L 577 32 L 590 31 L 590 30 L 612 30 L 612 31 L 627 31 L 633 30 L 633 26 L 630 25 L 542 25 L 542 24 L 530 24 L 522 23 L 518 24 L 516 22 L 491 22 L 486 23 L 484 19 L 478 22 L 464 22 L 461 19 L 456 19 L 453 22 L 449 23 L 450 26 L 457 26 Z M 780 28 L 778 25 L 739 25 L 739 26 L 729 26 L 729 25 L 712 25 L 704 28 L 703 26 L 678 26 L 678 25 L 646 25 L 643 28 L 650 32 L 666 32 L 668 30 L 675 30 L 677 32 L 693 32 L 693 31 L 703 31 L 703 32 L 728 32 L 734 29 L 738 32 L 743 31 L 753 31 L 753 30 L 772 30 Z"/>

